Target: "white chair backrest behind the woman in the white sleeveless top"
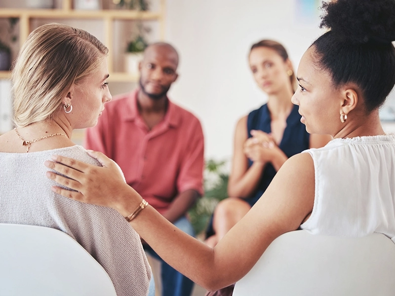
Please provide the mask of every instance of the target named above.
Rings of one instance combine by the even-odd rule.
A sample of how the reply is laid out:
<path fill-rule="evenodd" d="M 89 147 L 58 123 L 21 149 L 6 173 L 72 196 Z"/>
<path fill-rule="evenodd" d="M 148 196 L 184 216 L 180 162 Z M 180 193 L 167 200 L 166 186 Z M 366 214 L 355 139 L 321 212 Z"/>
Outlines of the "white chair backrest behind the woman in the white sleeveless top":
<path fill-rule="evenodd" d="M 233 296 L 393 296 L 395 244 L 361 238 L 285 233 L 235 285 Z"/>

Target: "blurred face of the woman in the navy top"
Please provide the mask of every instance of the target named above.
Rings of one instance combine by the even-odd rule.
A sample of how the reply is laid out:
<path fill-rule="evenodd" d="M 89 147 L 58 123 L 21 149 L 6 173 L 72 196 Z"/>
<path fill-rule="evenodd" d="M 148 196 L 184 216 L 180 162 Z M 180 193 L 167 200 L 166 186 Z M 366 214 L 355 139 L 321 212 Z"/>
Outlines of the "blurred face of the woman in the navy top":
<path fill-rule="evenodd" d="M 285 62 L 276 50 L 256 47 L 249 55 L 249 65 L 258 86 L 268 95 L 276 94 L 290 86 L 288 70 L 290 62 Z"/>

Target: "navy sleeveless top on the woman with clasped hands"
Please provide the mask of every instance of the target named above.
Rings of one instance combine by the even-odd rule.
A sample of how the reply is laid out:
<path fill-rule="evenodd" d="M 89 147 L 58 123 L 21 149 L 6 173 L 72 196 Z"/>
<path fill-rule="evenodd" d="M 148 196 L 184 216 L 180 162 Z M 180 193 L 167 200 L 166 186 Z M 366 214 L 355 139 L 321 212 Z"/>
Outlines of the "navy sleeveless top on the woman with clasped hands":
<path fill-rule="evenodd" d="M 300 118 L 301 115 L 298 112 L 298 106 L 294 105 L 291 113 L 288 115 L 287 126 L 285 127 L 281 143 L 278 146 L 288 158 L 309 149 L 310 134 L 306 131 L 305 125 L 300 122 Z M 252 137 L 250 133 L 251 130 L 261 130 L 268 134 L 272 132 L 270 111 L 267 104 L 248 114 L 248 138 Z M 252 161 L 248 159 L 248 166 L 250 167 L 251 165 Z M 275 168 L 271 163 L 268 163 L 264 168 L 257 189 L 251 196 L 244 200 L 253 206 L 262 196 L 263 192 L 265 192 L 275 175 Z"/>

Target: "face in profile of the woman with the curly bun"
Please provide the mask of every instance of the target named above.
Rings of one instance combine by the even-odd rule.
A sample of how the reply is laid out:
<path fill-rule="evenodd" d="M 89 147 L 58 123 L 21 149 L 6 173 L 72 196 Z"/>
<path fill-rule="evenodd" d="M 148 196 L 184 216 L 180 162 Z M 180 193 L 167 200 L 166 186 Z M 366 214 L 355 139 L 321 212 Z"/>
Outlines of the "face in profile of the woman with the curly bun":
<path fill-rule="evenodd" d="M 342 97 L 331 75 L 317 64 L 314 48 L 310 47 L 300 60 L 296 75 L 299 85 L 292 103 L 299 106 L 300 121 L 308 133 L 333 136 L 341 129 Z"/>

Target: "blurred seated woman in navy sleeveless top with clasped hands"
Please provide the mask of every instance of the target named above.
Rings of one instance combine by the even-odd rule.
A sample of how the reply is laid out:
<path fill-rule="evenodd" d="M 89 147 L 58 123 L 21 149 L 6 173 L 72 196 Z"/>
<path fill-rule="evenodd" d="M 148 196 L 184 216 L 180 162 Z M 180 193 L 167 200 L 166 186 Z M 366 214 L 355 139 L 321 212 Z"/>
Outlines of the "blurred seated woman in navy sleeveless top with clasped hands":
<path fill-rule="evenodd" d="M 218 204 L 206 232 L 212 247 L 257 202 L 288 157 L 331 140 L 308 134 L 300 122 L 298 106 L 291 102 L 296 83 L 292 63 L 280 43 L 253 44 L 248 61 L 268 103 L 237 122 L 229 198 Z"/>

